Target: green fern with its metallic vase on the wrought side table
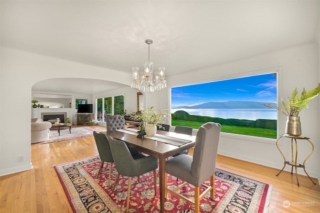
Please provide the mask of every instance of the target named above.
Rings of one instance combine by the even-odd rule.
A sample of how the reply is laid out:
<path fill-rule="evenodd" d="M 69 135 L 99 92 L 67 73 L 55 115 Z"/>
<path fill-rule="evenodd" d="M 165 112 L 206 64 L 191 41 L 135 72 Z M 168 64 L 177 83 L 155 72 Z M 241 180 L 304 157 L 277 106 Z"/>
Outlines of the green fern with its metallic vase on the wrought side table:
<path fill-rule="evenodd" d="M 292 136 L 300 136 L 301 135 L 301 125 L 300 125 L 300 117 L 299 112 L 304 109 L 308 108 L 307 103 L 318 96 L 320 93 L 320 83 L 314 89 L 309 91 L 301 92 L 301 95 L 298 96 L 298 91 L 295 88 L 291 96 L 288 97 L 287 103 L 281 98 L 281 105 L 283 108 L 277 107 L 273 103 L 262 104 L 269 109 L 277 109 L 283 114 L 287 116 L 286 126 L 285 126 L 285 134 L 292 135 Z"/>

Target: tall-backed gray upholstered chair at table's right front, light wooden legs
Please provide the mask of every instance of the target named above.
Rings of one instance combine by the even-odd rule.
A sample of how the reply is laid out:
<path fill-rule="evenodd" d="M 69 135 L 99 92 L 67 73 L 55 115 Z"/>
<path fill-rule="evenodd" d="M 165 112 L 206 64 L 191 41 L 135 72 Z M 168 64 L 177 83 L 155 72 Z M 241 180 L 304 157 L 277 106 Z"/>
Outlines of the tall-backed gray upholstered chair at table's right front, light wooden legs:
<path fill-rule="evenodd" d="M 199 200 L 208 192 L 210 192 L 210 199 L 212 201 L 214 199 L 214 170 L 220 129 L 221 125 L 218 123 L 208 122 L 203 124 L 196 134 L 193 157 L 178 155 L 165 162 L 166 179 L 167 174 L 170 174 L 184 181 L 174 190 L 167 188 L 167 183 L 165 182 L 165 196 L 167 192 L 170 192 L 189 202 L 194 205 L 194 213 L 199 213 Z M 210 186 L 203 184 L 208 178 L 210 178 Z M 194 202 L 178 193 L 187 183 L 194 186 Z M 200 194 L 199 187 L 201 185 L 206 190 Z"/>

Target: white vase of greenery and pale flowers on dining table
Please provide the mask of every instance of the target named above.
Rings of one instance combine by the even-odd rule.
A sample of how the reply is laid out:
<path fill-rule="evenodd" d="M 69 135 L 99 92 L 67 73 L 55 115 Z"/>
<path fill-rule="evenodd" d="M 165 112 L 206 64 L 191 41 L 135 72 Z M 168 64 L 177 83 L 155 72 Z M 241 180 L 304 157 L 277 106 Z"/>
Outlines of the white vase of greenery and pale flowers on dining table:
<path fill-rule="evenodd" d="M 145 122 L 145 133 L 149 137 L 155 135 L 156 125 L 162 127 L 160 123 L 167 119 L 167 116 L 168 114 L 163 111 L 156 112 L 153 106 L 148 107 L 144 111 L 140 111 L 140 114 L 131 115 L 132 118 Z"/>

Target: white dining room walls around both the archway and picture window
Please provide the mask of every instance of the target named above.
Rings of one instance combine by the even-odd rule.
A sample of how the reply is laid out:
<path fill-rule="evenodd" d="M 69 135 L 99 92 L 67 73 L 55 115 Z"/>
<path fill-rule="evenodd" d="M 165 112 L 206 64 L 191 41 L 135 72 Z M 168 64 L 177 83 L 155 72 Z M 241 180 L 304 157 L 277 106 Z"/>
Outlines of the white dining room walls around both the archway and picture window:
<path fill-rule="evenodd" d="M 169 109 L 169 88 L 171 86 L 200 83 L 208 80 L 224 79 L 234 76 L 235 73 L 245 73 L 255 70 L 277 67 L 282 73 L 282 96 L 288 96 L 294 87 L 301 91 L 317 85 L 320 79 L 318 71 L 318 47 L 315 43 L 292 47 L 289 49 L 272 52 L 220 66 L 196 70 L 193 73 L 183 73 L 167 78 L 167 88 L 154 93 L 146 93 L 145 106 L 154 106 L 157 109 Z M 43 70 L 47 70 L 43 72 Z M 90 70 L 89 72 L 87 70 Z M 282 70 L 282 71 L 281 71 Z M 31 86 L 40 80 L 58 77 L 92 78 L 101 76 L 100 79 L 110 80 L 128 85 L 130 73 L 115 72 L 112 70 L 79 64 L 75 62 L 50 58 L 14 49 L 1 48 L 1 102 L 0 102 L 0 175 L 10 174 L 30 169 L 30 100 Z M 91 73 L 91 75 L 87 74 Z M 80 75 L 80 76 L 79 76 Z M 29 76 L 32 76 L 30 78 Z M 30 78 L 30 79 L 29 79 Z M 107 78 L 107 79 L 106 79 Z M 29 79 L 29 80 L 26 80 Z M 10 92 L 7 88 L 10 88 Z M 125 94 L 130 91 L 123 89 Z M 132 90 L 132 102 L 136 103 L 136 90 Z M 130 92 L 131 93 L 131 92 Z M 92 97 L 112 95 L 111 93 L 97 94 Z M 281 95 L 281 94 L 280 94 Z M 127 100 L 126 100 L 127 101 Z M 10 104 L 7 104 L 10 103 Z M 125 108 L 129 107 L 126 103 Z M 16 112 L 19 112 L 17 114 Z M 282 116 L 282 115 L 280 115 Z M 300 113 L 302 134 L 311 138 L 315 151 L 306 163 L 306 171 L 311 177 L 319 177 L 319 101 L 311 101 L 309 109 Z M 16 122 L 16 121 L 19 122 Z M 285 118 L 279 117 L 280 133 L 284 131 Z M 14 129 L 12 128 L 14 127 Z M 15 134 L 16 131 L 19 134 Z M 253 139 L 256 140 L 256 139 Z M 220 154 L 236 157 L 246 161 L 282 168 L 283 159 L 272 143 L 250 141 L 245 137 L 230 137 L 221 134 Z M 281 141 L 281 149 L 287 155 L 290 153 L 289 143 Z M 310 148 L 304 141 L 299 141 L 298 159 L 304 159 Z M 25 161 L 18 163 L 18 156 L 24 156 Z M 303 162 L 303 161 L 302 161 Z M 301 162 L 301 163 L 302 163 Z M 287 167 L 288 168 L 288 167 Z M 303 170 L 298 173 L 304 175 Z"/>

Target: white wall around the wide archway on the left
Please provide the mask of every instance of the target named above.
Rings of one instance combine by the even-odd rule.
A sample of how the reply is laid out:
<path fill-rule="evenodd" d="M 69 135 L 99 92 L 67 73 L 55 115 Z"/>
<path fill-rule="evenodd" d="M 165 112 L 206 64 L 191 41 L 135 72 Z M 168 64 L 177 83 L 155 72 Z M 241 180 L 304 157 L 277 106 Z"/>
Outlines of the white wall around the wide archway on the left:
<path fill-rule="evenodd" d="M 74 76 L 77 78 L 97 78 L 98 76 L 101 80 L 118 83 L 121 83 L 122 79 L 122 81 L 131 79 L 130 73 L 6 47 L 1 47 L 0 51 L 0 176 L 32 168 L 30 162 L 30 101 L 32 100 L 31 88 L 34 83 L 50 78 L 72 78 Z M 19 134 L 16 134 L 17 132 Z M 23 156 L 24 162 L 18 162 L 18 156 Z"/>

